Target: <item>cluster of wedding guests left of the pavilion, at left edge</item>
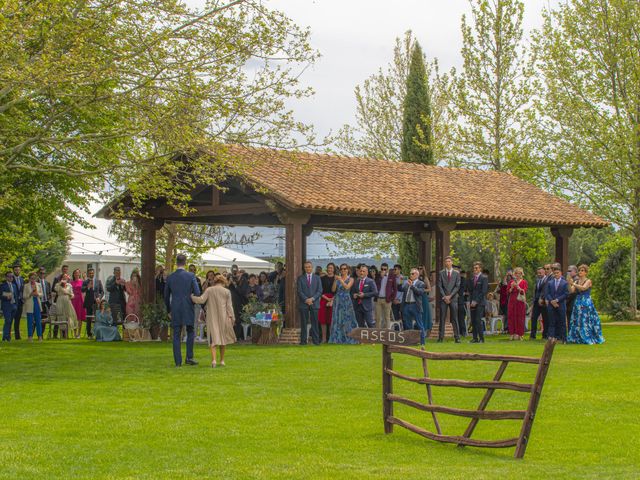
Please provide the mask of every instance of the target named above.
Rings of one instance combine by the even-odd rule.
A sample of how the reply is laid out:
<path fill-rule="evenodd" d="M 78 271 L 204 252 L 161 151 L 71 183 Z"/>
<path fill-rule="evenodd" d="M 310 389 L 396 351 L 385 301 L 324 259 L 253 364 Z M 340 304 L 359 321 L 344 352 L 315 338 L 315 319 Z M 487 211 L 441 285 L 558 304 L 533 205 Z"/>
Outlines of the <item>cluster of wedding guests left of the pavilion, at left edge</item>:
<path fill-rule="evenodd" d="M 120 268 L 116 267 L 107 279 L 106 288 L 95 277 L 93 268 L 69 273 L 69 266 L 63 265 L 52 282 L 46 277 L 46 269 L 40 267 L 25 279 L 19 263 L 6 272 L 5 282 L 0 285 L 3 341 L 11 340 L 12 326 L 14 339 L 21 339 L 23 313 L 27 317 L 29 341 L 33 341 L 34 334 L 42 341 L 46 321 L 54 325 L 54 338 L 58 334 L 80 338 L 84 324 L 87 338 L 95 337 L 99 341 L 119 340 L 117 325 L 140 322 L 141 278 L 137 270 L 125 281 Z"/>

